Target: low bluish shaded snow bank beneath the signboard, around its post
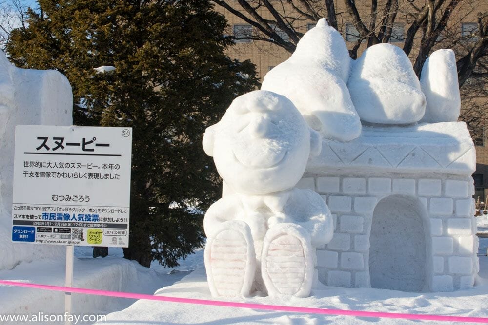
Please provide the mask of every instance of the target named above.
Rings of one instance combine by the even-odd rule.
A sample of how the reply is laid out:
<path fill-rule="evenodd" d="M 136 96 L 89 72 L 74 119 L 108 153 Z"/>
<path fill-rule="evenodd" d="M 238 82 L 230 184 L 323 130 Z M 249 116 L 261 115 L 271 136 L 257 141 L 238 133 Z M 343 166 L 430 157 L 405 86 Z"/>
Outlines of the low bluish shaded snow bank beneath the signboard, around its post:
<path fill-rule="evenodd" d="M 76 247 L 77 256 L 91 256 L 90 247 Z M 123 259 L 122 249 L 110 249 L 105 258 L 75 258 L 73 287 L 152 294 L 157 287 L 173 284 L 187 272 L 159 275 L 153 269 Z M 200 259 L 202 255 L 200 254 Z M 0 270 L 0 279 L 64 286 L 64 260 L 22 262 L 13 270 Z M 64 293 L 0 285 L 0 314 L 33 315 L 64 313 Z M 73 294 L 73 314 L 106 314 L 134 301 L 105 296 Z M 0 322 L 0 324 L 3 324 Z M 32 323 L 29 323 L 32 324 Z"/>

